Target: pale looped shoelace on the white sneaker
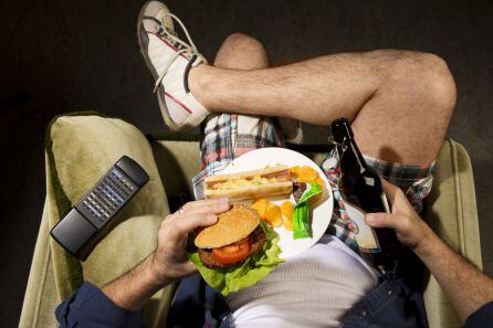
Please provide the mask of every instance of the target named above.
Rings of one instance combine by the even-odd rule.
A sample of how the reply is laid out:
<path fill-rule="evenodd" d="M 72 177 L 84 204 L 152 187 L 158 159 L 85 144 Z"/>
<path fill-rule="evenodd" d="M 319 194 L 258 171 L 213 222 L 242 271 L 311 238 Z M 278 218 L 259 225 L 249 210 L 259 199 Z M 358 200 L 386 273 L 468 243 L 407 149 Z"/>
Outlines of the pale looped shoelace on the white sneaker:
<path fill-rule="evenodd" d="M 175 33 L 169 32 L 166 29 L 164 19 L 166 17 L 170 17 L 171 19 L 174 19 L 181 28 L 181 30 L 185 32 L 185 35 L 187 36 L 187 40 L 189 43 L 181 41 L 177 35 L 175 35 Z M 197 55 L 197 59 L 199 61 L 204 61 L 206 59 L 199 53 L 199 51 L 197 50 L 196 44 L 193 43 L 193 41 L 190 38 L 190 34 L 188 33 L 187 28 L 185 27 L 185 24 L 181 22 L 181 20 L 176 17 L 175 14 L 170 13 L 170 12 L 166 12 L 164 14 L 164 18 L 161 19 L 161 32 L 164 33 L 164 35 L 161 34 L 161 36 L 167 38 L 168 40 L 172 41 L 175 44 L 179 44 L 181 46 L 181 49 L 178 49 L 177 46 L 177 52 L 169 59 L 169 61 L 165 64 L 165 66 L 162 67 L 161 73 L 158 75 L 158 78 L 156 80 L 156 84 L 154 85 L 154 93 L 156 93 L 156 91 L 159 87 L 159 84 L 161 83 L 162 78 L 165 78 L 166 73 L 168 73 L 168 68 L 169 66 L 171 66 L 171 64 L 175 62 L 175 60 L 182 53 L 189 53 L 191 55 Z"/>

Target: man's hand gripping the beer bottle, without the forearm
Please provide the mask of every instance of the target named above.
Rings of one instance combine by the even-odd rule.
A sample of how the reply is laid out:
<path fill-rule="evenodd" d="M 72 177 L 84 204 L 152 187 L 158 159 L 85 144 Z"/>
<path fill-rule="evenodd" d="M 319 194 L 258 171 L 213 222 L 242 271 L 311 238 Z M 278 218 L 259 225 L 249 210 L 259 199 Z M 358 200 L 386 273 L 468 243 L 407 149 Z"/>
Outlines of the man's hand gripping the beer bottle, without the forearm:
<path fill-rule="evenodd" d="M 391 204 L 391 213 L 369 213 L 365 221 L 373 228 L 390 228 L 399 241 L 411 250 L 423 244 L 433 232 L 419 218 L 400 188 L 381 179 L 384 191 Z"/>

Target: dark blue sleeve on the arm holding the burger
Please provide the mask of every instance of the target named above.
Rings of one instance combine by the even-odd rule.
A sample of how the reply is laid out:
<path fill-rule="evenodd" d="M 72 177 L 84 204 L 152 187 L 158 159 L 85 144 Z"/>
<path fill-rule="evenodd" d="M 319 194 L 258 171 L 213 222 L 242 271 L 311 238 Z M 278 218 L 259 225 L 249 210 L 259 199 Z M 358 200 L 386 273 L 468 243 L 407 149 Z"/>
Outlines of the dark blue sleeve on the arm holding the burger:
<path fill-rule="evenodd" d="M 84 283 L 55 310 L 61 328 L 144 328 L 141 311 L 128 311 L 116 306 L 97 287 Z"/>

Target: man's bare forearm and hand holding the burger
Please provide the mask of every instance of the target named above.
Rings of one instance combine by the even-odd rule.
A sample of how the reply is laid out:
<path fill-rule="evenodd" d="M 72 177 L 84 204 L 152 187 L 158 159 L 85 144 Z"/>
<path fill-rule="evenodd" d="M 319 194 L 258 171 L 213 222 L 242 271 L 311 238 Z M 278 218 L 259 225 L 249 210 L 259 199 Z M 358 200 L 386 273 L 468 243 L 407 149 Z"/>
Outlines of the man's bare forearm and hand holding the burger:
<path fill-rule="evenodd" d="M 103 293 L 120 308 L 141 309 L 157 290 L 196 272 L 185 250 L 188 234 L 197 228 L 214 224 L 217 214 L 229 208 L 228 199 L 186 203 L 181 211 L 162 221 L 156 251 L 130 272 L 106 285 Z"/>

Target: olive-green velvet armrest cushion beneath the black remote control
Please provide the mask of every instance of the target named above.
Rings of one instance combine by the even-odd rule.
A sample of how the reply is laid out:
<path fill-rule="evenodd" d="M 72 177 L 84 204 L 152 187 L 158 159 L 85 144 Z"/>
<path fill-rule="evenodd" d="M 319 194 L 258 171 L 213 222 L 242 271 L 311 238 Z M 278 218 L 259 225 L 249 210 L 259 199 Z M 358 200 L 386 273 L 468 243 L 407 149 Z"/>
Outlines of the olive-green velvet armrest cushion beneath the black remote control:
<path fill-rule="evenodd" d="M 118 213 L 115 228 L 84 262 L 50 240 L 59 299 L 66 298 L 83 281 L 103 286 L 123 275 L 156 247 L 157 231 L 169 213 L 153 151 L 146 137 L 133 125 L 94 113 L 55 118 L 46 134 L 49 215 L 52 229 L 97 180 L 123 156 L 136 160 L 149 182 Z M 165 317 L 174 286 L 165 288 L 147 306 L 155 321 Z M 166 301 L 162 301 L 162 300 Z M 159 316 L 157 316 L 159 315 Z"/>

